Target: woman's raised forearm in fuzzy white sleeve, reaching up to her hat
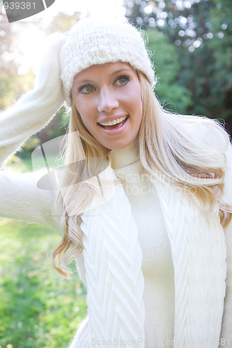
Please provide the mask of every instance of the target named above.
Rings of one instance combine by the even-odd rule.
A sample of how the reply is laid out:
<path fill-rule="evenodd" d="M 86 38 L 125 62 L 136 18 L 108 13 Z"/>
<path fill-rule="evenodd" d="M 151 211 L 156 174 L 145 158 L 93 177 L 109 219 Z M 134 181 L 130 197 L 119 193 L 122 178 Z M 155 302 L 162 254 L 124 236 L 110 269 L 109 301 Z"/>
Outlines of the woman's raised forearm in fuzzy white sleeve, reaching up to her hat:
<path fill-rule="evenodd" d="M 45 127 L 64 102 L 59 70 L 63 40 L 63 34 L 54 35 L 33 90 L 0 113 L 0 168 L 29 136 Z"/>

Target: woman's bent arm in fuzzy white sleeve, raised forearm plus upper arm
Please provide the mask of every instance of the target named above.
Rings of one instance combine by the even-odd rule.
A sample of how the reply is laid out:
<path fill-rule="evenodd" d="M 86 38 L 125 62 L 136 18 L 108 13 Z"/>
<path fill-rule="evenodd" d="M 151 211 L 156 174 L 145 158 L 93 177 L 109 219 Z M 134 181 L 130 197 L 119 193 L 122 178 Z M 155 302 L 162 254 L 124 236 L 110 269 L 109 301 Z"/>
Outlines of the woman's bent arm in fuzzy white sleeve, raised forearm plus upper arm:
<path fill-rule="evenodd" d="M 45 127 L 64 103 L 59 50 L 65 36 L 52 36 L 35 87 L 0 114 L 0 167 L 29 136 Z M 0 170 L 0 216 L 54 226 L 54 197 L 54 191 L 38 189 L 35 173 L 5 173 Z"/>

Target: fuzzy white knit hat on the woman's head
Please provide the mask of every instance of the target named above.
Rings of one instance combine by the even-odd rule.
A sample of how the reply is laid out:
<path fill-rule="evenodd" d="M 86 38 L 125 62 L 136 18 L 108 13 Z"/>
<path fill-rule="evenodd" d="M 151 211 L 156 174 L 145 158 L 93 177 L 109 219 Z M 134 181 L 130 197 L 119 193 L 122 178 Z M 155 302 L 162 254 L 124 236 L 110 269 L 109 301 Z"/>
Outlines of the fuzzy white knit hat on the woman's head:
<path fill-rule="evenodd" d="M 141 33 L 129 23 L 107 19 L 81 19 L 67 33 L 60 52 L 61 80 L 68 106 L 75 75 L 96 64 L 122 61 L 144 72 L 155 86 L 153 65 Z"/>

